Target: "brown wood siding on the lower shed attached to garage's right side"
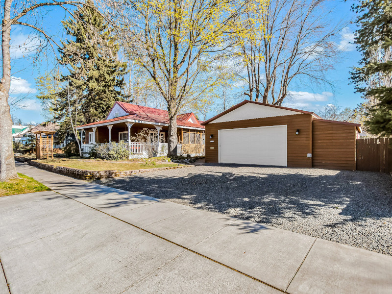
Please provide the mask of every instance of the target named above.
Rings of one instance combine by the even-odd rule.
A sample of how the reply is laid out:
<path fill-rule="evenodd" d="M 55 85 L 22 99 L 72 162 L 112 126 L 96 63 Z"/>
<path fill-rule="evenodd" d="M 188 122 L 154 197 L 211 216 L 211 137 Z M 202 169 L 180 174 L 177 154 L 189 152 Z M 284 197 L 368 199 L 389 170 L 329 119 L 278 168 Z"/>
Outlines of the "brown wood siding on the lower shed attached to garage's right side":
<path fill-rule="evenodd" d="M 356 127 L 313 120 L 313 167 L 355 170 Z"/>

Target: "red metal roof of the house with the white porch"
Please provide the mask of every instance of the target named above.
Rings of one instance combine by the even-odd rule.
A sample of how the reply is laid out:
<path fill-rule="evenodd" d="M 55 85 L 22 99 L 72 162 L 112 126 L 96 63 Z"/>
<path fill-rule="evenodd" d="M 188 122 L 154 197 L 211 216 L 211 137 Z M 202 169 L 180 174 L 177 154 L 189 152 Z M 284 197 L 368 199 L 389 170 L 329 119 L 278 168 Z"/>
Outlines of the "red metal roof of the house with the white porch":
<path fill-rule="evenodd" d="M 169 123 L 169 113 L 166 110 L 142 106 L 142 105 L 136 105 L 136 104 L 131 104 L 131 103 L 126 103 L 126 102 L 119 102 L 119 101 L 117 101 L 116 103 L 119 104 L 119 106 L 121 108 L 123 108 L 123 110 L 126 113 L 128 113 L 129 115 L 110 119 L 110 120 L 95 122 L 95 123 L 87 123 L 87 124 L 83 124 L 80 126 L 88 126 L 88 125 L 95 125 L 95 124 L 101 124 L 101 123 L 111 123 L 111 122 L 121 121 L 124 119 L 145 121 L 145 122 L 150 122 L 150 123 L 166 123 L 166 124 Z M 189 118 L 191 115 L 194 115 L 194 114 L 192 112 L 185 113 L 185 114 L 179 114 L 177 116 L 177 125 L 187 126 L 187 127 L 204 128 L 204 126 L 200 125 L 200 123 L 189 123 L 187 121 L 184 121 L 184 118 Z"/>

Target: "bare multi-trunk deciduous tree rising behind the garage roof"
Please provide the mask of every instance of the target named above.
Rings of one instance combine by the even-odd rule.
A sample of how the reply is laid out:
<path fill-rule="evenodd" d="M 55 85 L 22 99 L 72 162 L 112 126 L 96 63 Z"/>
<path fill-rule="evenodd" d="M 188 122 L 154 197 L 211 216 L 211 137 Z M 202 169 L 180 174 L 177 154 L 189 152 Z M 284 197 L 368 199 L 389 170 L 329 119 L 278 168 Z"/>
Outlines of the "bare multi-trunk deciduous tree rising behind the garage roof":
<path fill-rule="evenodd" d="M 330 25 L 326 0 L 270 1 L 265 14 L 248 15 L 247 27 L 256 32 L 237 39 L 244 64 L 243 78 L 250 100 L 281 105 L 288 87 L 303 80 L 329 84 L 325 73 L 339 57 L 336 40 L 342 24 Z"/>

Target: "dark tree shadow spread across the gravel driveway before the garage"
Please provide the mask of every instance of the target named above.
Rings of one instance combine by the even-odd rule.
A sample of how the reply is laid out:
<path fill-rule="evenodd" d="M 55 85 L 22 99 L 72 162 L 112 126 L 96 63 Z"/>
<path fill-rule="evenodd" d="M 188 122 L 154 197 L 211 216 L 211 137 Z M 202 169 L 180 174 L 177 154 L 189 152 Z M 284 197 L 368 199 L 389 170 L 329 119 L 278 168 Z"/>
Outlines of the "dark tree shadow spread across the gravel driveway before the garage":
<path fill-rule="evenodd" d="M 265 169 L 249 173 L 232 165 L 227 172 L 209 167 L 205 172 L 185 169 L 184 176 L 147 173 L 97 183 L 159 199 L 180 199 L 183 204 L 263 223 L 317 218 L 324 208 L 340 209 L 340 215 L 349 217 L 346 221 L 392 217 L 391 180 L 378 173 L 283 168 L 279 173 Z"/>

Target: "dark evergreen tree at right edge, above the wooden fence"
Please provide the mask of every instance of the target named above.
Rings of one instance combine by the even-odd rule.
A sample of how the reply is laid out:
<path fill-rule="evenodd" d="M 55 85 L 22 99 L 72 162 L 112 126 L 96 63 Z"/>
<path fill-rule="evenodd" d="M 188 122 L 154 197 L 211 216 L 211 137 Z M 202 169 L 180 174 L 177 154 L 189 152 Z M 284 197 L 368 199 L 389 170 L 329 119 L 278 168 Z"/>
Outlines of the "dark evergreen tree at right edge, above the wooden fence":
<path fill-rule="evenodd" d="M 368 101 L 368 131 L 392 135 L 392 0 L 362 0 L 353 6 L 359 14 L 355 43 L 362 67 L 351 72 L 357 92 Z"/>

